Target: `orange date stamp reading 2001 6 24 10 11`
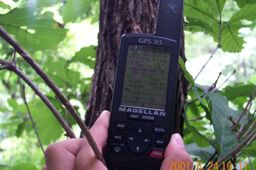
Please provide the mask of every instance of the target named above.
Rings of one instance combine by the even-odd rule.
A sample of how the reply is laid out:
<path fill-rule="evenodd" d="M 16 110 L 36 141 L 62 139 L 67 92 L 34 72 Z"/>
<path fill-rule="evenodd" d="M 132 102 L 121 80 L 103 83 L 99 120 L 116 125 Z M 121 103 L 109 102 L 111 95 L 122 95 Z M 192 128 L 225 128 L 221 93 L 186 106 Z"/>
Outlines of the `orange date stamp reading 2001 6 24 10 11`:
<path fill-rule="evenodd" d="M 247 162 L 238 162 L 234 163 L 234 165 L 229 161 L 229 162 L 222 162 L 219 163 L 213 163 L 213 162 L 208 162 L 204 167 L 202 167 L 202 162 L 198 161 L 196 165 L 194 165 L 194 168 L 189 168 L 189 162 L 173 162 L 171 161 L 170 163 L 170 170 L 218 170 L 218 168 L 223 168 L 223 170 L 233 170 L 237 169 L 236 167 L 238 166 L 240 170 L 245 167 L 245 170 L 247 170 Z M 205 168 L 207 167 L 207 168 Z"/>

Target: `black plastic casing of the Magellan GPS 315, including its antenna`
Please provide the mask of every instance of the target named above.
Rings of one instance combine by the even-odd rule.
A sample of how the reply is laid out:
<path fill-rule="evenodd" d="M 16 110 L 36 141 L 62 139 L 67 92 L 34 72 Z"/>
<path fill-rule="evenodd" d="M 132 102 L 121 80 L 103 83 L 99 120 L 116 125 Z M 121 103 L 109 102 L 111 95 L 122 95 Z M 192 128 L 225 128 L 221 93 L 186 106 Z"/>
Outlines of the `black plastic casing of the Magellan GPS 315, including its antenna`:
<path fill-rule="evenodd" d="M 179 46 L 183 18 L 182 14 L 183 0 L 160 0 L 156 32 L 154 34 L 125 34 L 121 37 L 115 85 L 110 111 L 111 115 L 109 132 L 105 152 L 106 163 L 110 169 L 112 169 L 112 167 L 115 167 L 121 170 L 157 170 L 161 167 L 163 158 L 150 158 L 149 155 L 152 150 L 162 151 L 164 154 L 164 150 L 166 149 L 172 135 Z M 157 43 L 160 41 L 161 43 Z M 166 93 L 166 105 L 164 111 L 158 110 L 159 112 L 165 112 L 165 116 L 161 114 L 152 115 L 152 113 L 156 111 L 156 109 L 120 106 L 129 44 L 167 47 L 171 49 L 171 54 L 169 56 L 170 63 Z M 120 107 L 122 107 L 123 109 L 119 109 Z M 128 109 L 124 108 L 130 109 L 128 111 Z M 139 112 L 138 110 L 141 112 Z M 135 113 L 133 113 L 133 111 Z M 155 120 L 145 121 L 138 119 L 129 119 L 129 114 L 154 116 Z M 128 124 L 128 126 L 126 127 L 126 129 L 120 130 L 115 127 L 116 123 L 126 123 L 126 125 Z M 129 132 L 131 132 L 134 127 L 138 126 L 146 128 L 150 133 L 151 138 L 149 149 L 139 154 L 131 152 L 127 146 L 127 134 L 129 135 Z M 154 133 L 152 128 L 153 126 L 164 127 L 166 132 L 164 134 Z M 114 141 L 114 134 L 121 135 L 123 137 L 121 141 Z M 164 139 L 164 145 L 159 146 L 155 144 L 155 139 L 159 138 Z M 122 147 L 123 152 L 113 152 L 113 145 Z"/>

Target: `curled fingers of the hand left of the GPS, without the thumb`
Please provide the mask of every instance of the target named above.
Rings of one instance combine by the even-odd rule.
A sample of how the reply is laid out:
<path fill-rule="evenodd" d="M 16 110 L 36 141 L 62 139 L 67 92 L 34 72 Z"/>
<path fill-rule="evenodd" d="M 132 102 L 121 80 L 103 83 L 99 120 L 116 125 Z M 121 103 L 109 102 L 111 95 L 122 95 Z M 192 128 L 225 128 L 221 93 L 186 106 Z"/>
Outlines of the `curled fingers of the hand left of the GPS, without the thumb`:
<path fill-rule="evenodd" d="M 103 111 L 90 129 L 100 151 L 104 150 L 109 129 L 108 111 Z M 42 170 L 107 170 L 99 161 L 87 139 L 75 138 L 51 144 L 44 152 L 45 163 Z"/>

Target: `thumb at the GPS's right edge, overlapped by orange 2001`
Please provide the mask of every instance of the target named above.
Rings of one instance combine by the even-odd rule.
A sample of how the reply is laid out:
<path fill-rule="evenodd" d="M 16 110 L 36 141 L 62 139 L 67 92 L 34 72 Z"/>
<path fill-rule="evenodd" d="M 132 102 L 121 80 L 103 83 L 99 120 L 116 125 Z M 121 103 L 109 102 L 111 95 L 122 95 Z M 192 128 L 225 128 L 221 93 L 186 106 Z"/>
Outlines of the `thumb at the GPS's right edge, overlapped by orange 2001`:
<path fill-rule="evenodd" d="M 184 142 L 179 133 L 172 135 L 172 138 L 166 147 L 166 151 L 164 153 L 164 161 L 162 162 L 160 170 L 175 169 L 175 163 L 176 166 L 179 164 L 182 169 L 184 166 L 185 169 L 192 169 L 193 167 L 193 159 L 185 150 Z"/>

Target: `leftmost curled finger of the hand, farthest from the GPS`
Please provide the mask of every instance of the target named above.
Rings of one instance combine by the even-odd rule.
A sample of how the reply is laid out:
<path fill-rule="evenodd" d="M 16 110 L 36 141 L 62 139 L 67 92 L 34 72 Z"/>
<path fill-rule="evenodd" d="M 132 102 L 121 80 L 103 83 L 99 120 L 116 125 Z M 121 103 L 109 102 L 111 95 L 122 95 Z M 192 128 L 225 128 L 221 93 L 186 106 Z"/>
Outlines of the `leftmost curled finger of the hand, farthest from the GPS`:
<path fill-rule="evenodd" d="M 46 167 L 42 170 L 72 170 L 83 139 L 67 139 L 50 145 L 44 152 Z"/>

